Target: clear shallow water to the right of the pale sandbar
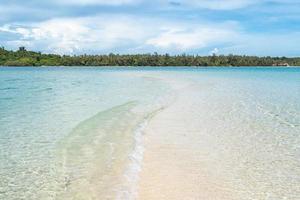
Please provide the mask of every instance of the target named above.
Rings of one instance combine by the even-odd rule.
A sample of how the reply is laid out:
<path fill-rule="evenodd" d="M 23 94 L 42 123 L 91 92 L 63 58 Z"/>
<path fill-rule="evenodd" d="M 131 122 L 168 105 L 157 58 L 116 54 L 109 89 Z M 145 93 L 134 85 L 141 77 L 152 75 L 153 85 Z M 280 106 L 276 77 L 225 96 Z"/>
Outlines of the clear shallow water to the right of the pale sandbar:
<path fill-rule="evenodd" d="M 190 78 L 210 176 L 236 199 L 300 199 L 299 68 L 210 70 Z"/>

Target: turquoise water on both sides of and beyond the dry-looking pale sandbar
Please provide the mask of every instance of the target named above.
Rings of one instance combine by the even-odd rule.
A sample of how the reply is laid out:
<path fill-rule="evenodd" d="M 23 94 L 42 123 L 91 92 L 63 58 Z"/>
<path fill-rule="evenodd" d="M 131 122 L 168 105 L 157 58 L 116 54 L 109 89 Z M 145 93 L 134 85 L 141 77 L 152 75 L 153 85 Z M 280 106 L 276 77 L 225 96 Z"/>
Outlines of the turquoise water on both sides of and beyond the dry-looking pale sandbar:
<path fill-rule="evenodd" d="M 286 199 L 300 196 L 300 68 L 2 67 L 0 199 L 133 199 L 124 173 L 141 161 L 136 130 L 172 100 L 170 79 L 211 87 L 195 97 L 237 133 L 224 141 L 262 163 L 255 171 L 237 157 L 237 171 L 270 197 L 286 187 Z"/>

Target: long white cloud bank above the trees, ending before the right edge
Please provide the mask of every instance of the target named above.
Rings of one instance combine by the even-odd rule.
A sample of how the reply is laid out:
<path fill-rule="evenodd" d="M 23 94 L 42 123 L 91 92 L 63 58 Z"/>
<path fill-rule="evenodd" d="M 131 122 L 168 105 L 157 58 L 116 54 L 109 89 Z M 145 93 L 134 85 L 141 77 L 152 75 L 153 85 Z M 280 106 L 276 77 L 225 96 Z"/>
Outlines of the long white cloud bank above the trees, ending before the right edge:
<path fill-rule="evenodd" d="M 232 24 L 170 21 L 127 15 L 52 19 L 22 27 L 3 26 L 17 35 L 18 44 L 47 52 L 186 52 L 228 41 L 236 32 Z M 14 46 L 14 48 L 16 48 Z"/>

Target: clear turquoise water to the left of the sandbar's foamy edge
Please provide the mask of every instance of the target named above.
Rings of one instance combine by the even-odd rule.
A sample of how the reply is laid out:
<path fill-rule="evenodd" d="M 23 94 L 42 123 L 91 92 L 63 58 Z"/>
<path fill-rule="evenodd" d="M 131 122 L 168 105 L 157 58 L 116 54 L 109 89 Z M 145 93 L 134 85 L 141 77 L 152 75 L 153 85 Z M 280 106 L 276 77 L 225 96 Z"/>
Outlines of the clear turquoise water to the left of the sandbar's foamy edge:
<path fill-rule="evenodd" d="M 94 174 L 85 173 L 97 167 L 92 166 L 95 159 L 96 164 L 106 162 L 103 170 L 112 165 L 110 158 L 101 158 L 106 156 L 103 152 L 110 155 L 114 146 L 115 154 L 130 152 L 133 140 L 128 137 L 132 135 L 119 136 L 118 132 L 134 129 L 156 109 L 153 102 L 166 90 L 159 80 L 136 73 L 96 68 L 1 68 L 0 199 L 72 199 L 69 193 L 79 187 L 76 180 L 92 179 Z M 115 138 L 110 138 L 113 134 Z M 129 144 L 117 149 L 124 141 Z M 115 156 L 125 159 L 124 155 Z M 107 173 L 114 172 L 107 169 Z"/>

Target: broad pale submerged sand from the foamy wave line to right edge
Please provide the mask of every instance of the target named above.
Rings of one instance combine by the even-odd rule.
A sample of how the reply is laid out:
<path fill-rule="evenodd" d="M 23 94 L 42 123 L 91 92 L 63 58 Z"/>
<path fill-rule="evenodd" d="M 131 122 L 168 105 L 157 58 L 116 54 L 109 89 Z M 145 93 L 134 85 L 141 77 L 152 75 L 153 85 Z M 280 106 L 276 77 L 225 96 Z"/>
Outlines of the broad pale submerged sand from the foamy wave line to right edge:
<path fill-rule="evenodd" d="M 285 113 L 218 81 L 174 91 L 145 129 L 138 199 L 300 198 L 298 143 L 286 134 L 299 129 Z"/>

